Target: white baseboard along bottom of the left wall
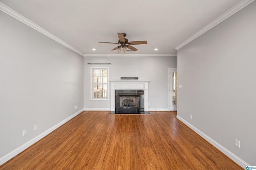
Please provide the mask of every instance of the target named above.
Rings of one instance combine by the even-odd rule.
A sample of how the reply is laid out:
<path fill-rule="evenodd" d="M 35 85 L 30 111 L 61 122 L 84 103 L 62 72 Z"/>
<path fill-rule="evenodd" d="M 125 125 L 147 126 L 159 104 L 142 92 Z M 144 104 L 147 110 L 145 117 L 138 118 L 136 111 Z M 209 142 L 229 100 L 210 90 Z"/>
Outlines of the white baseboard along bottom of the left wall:
<path fill-rule="evenodd" d="M 58 123 L 57 125 L 54 125 L 53 127 L 49 128 L 48 130 L 46 130 L 45 132 L 39 134 L 38 136 L 34 137 L 33 139 L 29 140 L 28 142 L 26 142 L 25 144 L 21 145 L 20 147 L 16 148 L 15 150 L 13 150 L 12 152 L 6 154 L 5 156 L 3 156 L 2 158 L 0 158 L 0 165 L 4 164 L 5 162 L 7 162 L 8 160 L 10 160 L 11 158 L 13 158 L 14 156 L 18 155 L 20 152 L 22 152 L 23 150 L 25 150 L 26 148 L 28 148 L 29 146 L 31 146 L 32 144 L 36 143 L 38 140 L 42 139 L 44 136 L 50 134 L 50 132 L 54 131 L 56 128 L 60 127 L 61 125 L 63 125 L 64 123 L 68 122 L 69 120 L 71 120 L 72 118 L 76 117 L 79 113 L 81 113 L 82 111 L 84 111 L 84 109 L 81 109 L 80 111 L 76 112 L 75 114 L 71 115 L 70 117 L 64 119 L 63 121 L 61 121 L 60 123 Z"/>

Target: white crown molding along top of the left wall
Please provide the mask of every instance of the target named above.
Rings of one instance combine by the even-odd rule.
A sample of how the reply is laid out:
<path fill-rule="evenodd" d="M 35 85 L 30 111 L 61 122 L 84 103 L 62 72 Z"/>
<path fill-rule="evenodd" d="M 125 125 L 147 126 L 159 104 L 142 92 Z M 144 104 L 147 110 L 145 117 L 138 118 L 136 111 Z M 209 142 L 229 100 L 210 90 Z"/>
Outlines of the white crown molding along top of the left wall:
<path fill-rule="evenodd" d="M 34 28 L 35 30 L 37 30 L 38 32 L 48 36 L 49 38 L 51 38 L 52 40 L 64 45 L 65 47 L 68 47 L 69 49 L 75 51 L 76 53 L 80 54 L 80 55 L 84 55 L 84 53 L 82 53 L 81 51 L 79 51 L 78 49 L 72 47 L 71 45 L 69 45 L 68 43 L 64 42 L 63 40 L 61 40 L 60 38 L 54 36 L 53 34 L 51 34 L 50 32 L 44 30 L 42 27 L 36 25 L 34 22 L 28 20 L 27 18 L 25 18 L 24 16 L 20 15 L 18 12 L 12 10 L 11 8 L 9 8 L 8 6 L 2 4 L 0 2 L 0 10 L 5 12 L 6 14 L 12 16 L 13 18 L 19 20 L 20 22 L 23 22 L 24 24 L 30 26 L 31 28 Z"/>

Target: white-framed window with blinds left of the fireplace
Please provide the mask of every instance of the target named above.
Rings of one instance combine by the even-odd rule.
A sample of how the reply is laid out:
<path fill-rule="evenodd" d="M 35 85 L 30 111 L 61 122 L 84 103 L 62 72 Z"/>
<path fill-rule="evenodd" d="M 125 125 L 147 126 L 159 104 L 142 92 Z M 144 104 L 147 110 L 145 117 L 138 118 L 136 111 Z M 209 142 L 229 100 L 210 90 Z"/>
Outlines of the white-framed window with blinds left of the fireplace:
<path fill-rule="evenodd" d="M 108 100 L 108 67 L 91 67 L 91 100 Z"/>

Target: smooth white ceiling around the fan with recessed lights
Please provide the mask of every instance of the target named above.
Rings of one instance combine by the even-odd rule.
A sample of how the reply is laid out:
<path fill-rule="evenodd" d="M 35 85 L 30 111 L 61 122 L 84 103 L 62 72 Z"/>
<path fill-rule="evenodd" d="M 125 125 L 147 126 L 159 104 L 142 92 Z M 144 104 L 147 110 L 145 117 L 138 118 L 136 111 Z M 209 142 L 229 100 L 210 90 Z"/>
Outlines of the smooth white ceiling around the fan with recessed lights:
<path fill-rule="evenodd" d="M 0 0 L 85 55 L 117 54 L 111 51 L 117 45 L 98 43 L 117 43 L 117 32 L 129 41 L 148 41 L 127 53 L 176 54 L 175 47 L 240 1 Z"/>

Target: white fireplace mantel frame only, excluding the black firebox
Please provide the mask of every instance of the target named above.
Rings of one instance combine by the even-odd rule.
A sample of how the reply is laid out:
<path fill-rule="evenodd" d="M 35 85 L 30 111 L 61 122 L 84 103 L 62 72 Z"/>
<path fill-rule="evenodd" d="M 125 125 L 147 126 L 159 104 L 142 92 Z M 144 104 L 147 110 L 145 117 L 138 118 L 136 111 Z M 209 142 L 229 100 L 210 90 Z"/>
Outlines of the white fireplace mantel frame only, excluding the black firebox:
<path fill-rule="evenodd" d="M 122 80 L 110 82 L 110 111 L 115 111 L 115 90 L 144 90 L 144 111 L 148 111 L 148 83 L 150 81 Z"/>

